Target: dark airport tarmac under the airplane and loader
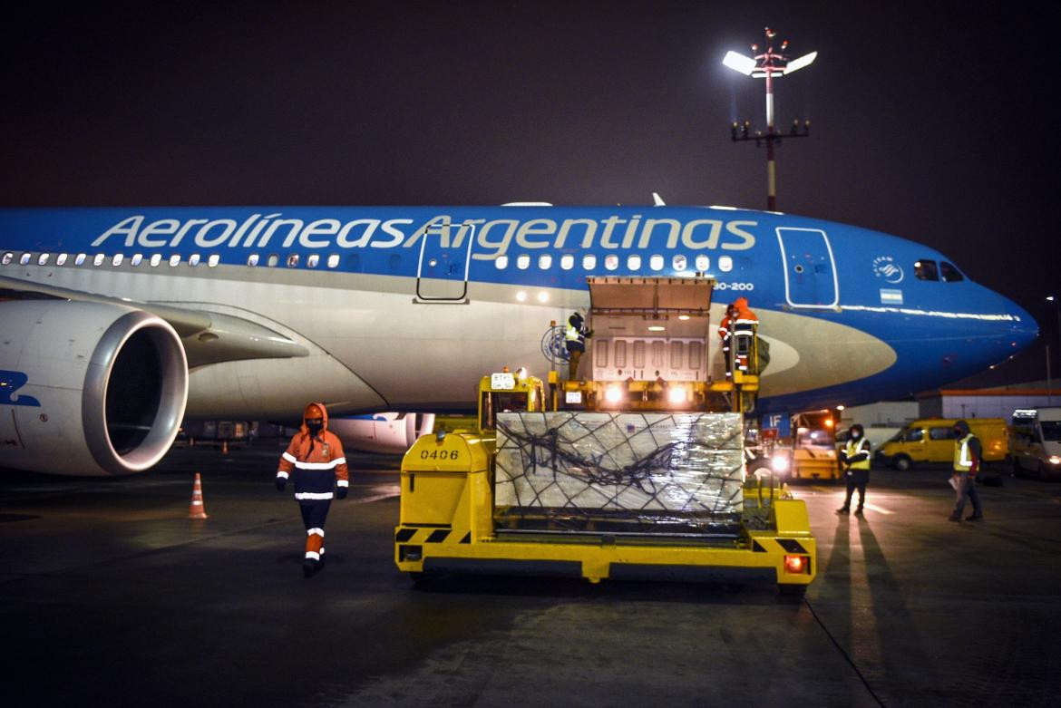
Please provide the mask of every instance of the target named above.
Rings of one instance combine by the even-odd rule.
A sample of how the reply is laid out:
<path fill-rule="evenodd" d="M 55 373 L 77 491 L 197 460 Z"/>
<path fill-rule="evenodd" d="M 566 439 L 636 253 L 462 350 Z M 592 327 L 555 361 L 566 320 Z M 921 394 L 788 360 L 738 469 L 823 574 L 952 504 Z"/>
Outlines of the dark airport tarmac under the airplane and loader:
<path fill-rule="evenodd" d="M 393 560 L 399 458 L 349 456 L 328 564 L 303 579 L 280 452 L 174 449 L 112 479 L 0 471 L 3 705 L 1061 705 L 1061 483 L 1004 475 L 962 524 L 944 467 L 874 468 L 864 518 L 834 513 L 840 486 L 797 486 L 819 551 L 802 599 L 414 586 Z"/>

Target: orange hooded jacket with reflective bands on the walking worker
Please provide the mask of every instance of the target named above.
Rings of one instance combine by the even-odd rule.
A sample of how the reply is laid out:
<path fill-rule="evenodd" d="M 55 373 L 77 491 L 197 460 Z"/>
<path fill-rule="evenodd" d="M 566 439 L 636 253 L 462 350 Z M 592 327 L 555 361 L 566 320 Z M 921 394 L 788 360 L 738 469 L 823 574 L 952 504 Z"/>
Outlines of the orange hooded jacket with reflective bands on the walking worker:
<path fill-rule="evenodd" d="M 350 485 L 346 455 L 343 443 L 328 430 L 328 409 L 321 403 L 312 405 L 320 408 L 323 413 L 320 432 L 316 436 L 310 433 L 303 414 L 301 428 L 280 456 L 276 476 L 281 479 L 294 476 L 295 498 L 299 501 L 330 501 L 336 485 Z"/>

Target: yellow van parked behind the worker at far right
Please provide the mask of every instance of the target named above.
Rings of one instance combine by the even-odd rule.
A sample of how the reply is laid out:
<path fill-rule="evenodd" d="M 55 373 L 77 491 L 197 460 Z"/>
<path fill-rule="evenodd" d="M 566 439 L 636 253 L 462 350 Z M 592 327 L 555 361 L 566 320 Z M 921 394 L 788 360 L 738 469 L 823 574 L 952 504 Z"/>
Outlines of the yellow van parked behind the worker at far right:
<path fill-rule="evenodd" d="M 984 461 L 1001 462 L 1009 452 L 1009 429 L 1001 418 L 923 418 L 908 423 L 884 443 L 875 459 L 895 470 L 909 470 L 917 463 L 954 461 L 954 424 L 969 423 L 969 429 L 980 439 Z"/>

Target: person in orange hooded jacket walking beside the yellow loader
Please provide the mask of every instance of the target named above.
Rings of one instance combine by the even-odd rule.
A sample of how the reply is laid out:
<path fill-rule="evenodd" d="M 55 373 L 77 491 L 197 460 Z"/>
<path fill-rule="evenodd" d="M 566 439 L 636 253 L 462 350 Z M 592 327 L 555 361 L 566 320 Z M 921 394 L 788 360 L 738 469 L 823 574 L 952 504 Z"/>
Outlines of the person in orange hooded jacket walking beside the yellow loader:
<path fill-rule="evenodd" d="M 306 559 L 302 573 L 309 578 L 325 562 L 325 519 L 333 496 L 345 499 L 350 482 L 343 443 L 328 431 L 328 411 L 321 403 L 311 403 L 302 415 L 302 426 L 280 456 L 276 489 L 283 491 L 294 473 L 295 498 L 306 526 Z"/>

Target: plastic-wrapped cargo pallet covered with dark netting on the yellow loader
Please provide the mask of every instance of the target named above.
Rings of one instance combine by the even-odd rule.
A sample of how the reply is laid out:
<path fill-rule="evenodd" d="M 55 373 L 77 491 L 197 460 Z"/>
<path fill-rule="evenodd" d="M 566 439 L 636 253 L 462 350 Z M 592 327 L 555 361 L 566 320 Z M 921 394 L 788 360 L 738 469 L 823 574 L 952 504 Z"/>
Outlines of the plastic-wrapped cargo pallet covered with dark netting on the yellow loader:
<path fill-rule="evenodd" d="M 731 536 L 742 431 L 738 413 L 500 413 L 498 526 Z"/>

